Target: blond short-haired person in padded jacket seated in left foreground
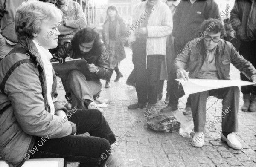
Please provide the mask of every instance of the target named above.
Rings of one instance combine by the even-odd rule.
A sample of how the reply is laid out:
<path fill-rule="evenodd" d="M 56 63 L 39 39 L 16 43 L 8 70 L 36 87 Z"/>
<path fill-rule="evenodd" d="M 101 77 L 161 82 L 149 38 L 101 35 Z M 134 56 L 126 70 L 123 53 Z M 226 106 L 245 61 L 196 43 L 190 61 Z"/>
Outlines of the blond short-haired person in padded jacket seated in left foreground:
<path fill-rule="evenodd" d="M 116 141 L 99 110 L 67 111 L 52 100 L 56 76 L 48 49 L 57 47 L 61 15 L 53 4 L 38 1 L 23 2 L 17 9 L 19 42 L 0 66 L 0 156 L 12 167 L 21 167 L 28 158 L 104 167 Z M 86 132 L 90 136 L 76 135 Z"/>

